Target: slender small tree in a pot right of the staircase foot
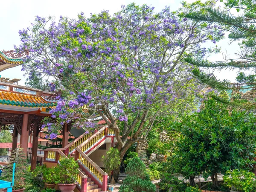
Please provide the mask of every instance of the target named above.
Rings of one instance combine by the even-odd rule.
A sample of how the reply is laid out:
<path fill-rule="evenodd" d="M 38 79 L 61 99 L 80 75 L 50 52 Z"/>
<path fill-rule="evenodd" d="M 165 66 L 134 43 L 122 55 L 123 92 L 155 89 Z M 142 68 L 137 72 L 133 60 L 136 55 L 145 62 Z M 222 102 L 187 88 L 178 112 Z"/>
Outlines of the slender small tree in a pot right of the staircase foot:
<path fill-rule="evenodd" d="M 119 151 L 116 148 L 110 148 L 107 151 L 106 156 L 102 156 L 102 161 L 105 165 L 106 172 L 108 175 L 111 174 L 111 171 L 113 169 L 117 169 L 120 167 L 120 156 L 119 156 Z M 114 180 L 114 176 L 111 179 L 111 184 L 116 183 Z"/>

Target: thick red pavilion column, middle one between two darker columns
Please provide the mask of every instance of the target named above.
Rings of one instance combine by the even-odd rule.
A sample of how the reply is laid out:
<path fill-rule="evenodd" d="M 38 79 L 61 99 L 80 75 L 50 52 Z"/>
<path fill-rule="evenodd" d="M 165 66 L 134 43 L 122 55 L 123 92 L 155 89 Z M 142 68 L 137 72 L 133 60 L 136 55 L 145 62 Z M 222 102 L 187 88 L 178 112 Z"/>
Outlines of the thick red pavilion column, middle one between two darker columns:
<path fill-rule="evenodd" d="M 20 148 L 24 149 L 24 153 L 26 154 L 26 157 L 27 157 L 28 143 L 29 143 L 28 120 L 29 120 L 29 115 L 24 114 L 23 122 L 22 122 L 21 136 L 20 136 Z"/>

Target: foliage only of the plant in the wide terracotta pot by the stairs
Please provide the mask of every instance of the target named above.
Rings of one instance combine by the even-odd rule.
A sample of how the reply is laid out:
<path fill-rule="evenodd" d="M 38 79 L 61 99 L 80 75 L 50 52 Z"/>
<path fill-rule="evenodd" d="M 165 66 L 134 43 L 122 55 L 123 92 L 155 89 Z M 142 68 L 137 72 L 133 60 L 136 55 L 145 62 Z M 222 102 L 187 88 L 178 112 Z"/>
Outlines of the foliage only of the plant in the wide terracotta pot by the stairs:
<path fill-rule="evenodd" d="M 79 165 L 74 158 L 62 158 L 59 164 L 55 167 L 56 181 L 60 184 L 76 183 L 77 175 L 79 174 Z"/>

